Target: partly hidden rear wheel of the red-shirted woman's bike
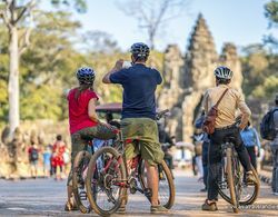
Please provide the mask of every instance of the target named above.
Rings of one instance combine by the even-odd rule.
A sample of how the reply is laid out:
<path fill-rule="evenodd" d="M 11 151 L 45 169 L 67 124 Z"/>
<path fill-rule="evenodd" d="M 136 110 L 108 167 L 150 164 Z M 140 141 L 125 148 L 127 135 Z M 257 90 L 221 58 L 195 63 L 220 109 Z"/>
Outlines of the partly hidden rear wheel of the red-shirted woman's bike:
<path fill-rule="evenodd" d="M 90 161 L 90 154 L 86 150 L 79 151 L 73 162 L 72 171 L 72 190 L 76 204 L 79 210 L 83 214 L 90 213 L 90 203 L 87 198 L 85 188 L 85 180 L 87 177 L 88 165 Z"/>

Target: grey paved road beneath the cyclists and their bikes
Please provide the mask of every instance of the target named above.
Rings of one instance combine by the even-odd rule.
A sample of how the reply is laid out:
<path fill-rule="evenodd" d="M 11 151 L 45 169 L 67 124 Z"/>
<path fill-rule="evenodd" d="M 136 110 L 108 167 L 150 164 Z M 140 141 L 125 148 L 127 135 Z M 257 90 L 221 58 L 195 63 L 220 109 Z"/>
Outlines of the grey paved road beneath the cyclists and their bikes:
<path fill-rule="evenodd" d="M 176 171 L 177 196 L 172 210 L 165 216 L 278 216 L 278 197 L 270 193 L 270 187 L 262 185 L 259 199 L 252 209 L 232 214 L 226 201 L 220 199 L 219 211 L 201 211 L 206 194 L 196 177 L 186 171 Z M 0 180 L 0 216 L 96 216 L 79 211 L 66 213 L 66 181 L 52 179 L 7 181 Z M 117 216 L 117 215 L 116 215 Z M 141 195 L 130 197 L 126 216 L 150 216 L 149 204 Z"/>

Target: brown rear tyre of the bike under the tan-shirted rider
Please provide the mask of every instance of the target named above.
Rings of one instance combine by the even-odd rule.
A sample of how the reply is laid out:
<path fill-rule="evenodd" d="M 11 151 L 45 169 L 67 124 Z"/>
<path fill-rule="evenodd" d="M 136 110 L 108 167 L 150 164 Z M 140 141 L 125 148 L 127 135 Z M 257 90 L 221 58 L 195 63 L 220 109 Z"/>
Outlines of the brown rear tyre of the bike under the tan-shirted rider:
<path fill-rule="evenodd" d="M 232 149 L 226 149 L 227 157 L 227 181 L 230 191 L 230 204 L 232 205 L 234 213 L 238 213 L 238 201 L 236 197 L 236 186 L 234 180 L 234 168 L 232 168 Z"/>

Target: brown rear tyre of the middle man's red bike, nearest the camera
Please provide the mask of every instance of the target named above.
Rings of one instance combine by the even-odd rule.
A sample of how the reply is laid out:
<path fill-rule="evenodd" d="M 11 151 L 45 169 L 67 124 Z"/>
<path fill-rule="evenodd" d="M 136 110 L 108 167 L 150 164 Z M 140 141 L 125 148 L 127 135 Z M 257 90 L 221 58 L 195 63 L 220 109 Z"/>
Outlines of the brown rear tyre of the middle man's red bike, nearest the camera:
<path fill-rule="evenodd" d="M 98 149 L 91 157 L 90 162 L 89 162 L 89 167 L 88 167 L 88 175 L 87 175 L 87 179 L 86 179 L 86 189 L 88 193 L 88 199 L 90 201 L 91 208 L 100 216 L 110 216 L 113 213 L 116 213 L 121 203 L 122 203 L 122 198 L 123 198 L 123 191 L 125 191 L 125 187 L 120 187 L 120 193 L 119 193 L 119 198 L 117 199 L 116 204 L 113 205 L 112 208 L 105 210 L 101 207 L 98 206 L 97 203 L 97 197 L 95 197 L 92 190 L 91 190 L 91 186 L 92 186 L 92 176 L 96 175 L 96 165 L 97 165 L 97 160 L 100 156 L 102 156 L 103 154 L 110 154 L 111 156 L 113 156 L 116 159 L 118 159 L 120 157 L 120 154 L 112 147 L 102 147 L 100 149 Z M 120 170 L 120 176 L 122 180 L 126 180 L 126 170 L 125 170 L 125 165 L 123 165 L 123 160 L 120 161 L 119 165 L 119 170 Z"/>

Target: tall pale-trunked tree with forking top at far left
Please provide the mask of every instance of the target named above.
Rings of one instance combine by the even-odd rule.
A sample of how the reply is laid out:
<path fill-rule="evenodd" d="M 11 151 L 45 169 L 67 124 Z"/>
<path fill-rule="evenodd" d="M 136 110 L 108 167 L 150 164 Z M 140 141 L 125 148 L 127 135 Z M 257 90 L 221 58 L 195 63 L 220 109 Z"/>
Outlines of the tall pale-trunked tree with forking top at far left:
<path fill-rule="evenodd" d="M 53 4 L 69 4 L 70 1 L 52 0 Z M 71 1 L 72 2 L 72 1 Z M 77 10 L 85 9 L 85 0 L 75 1 Z M 9 125 L 10 136 L 19 126 L 19 62 L 20 56 L 30 45 L 33 11 L 38 0 L 1 0 L 0 18 L 9 34 Z M 79 8 L 80 7 L 80 8 Z"/>

